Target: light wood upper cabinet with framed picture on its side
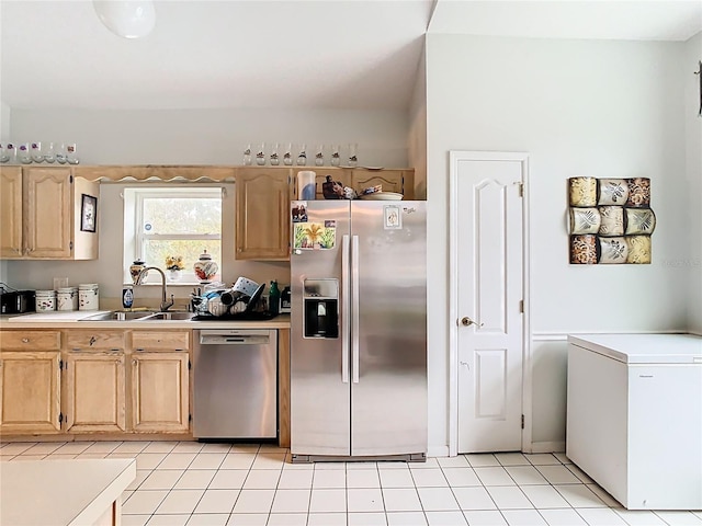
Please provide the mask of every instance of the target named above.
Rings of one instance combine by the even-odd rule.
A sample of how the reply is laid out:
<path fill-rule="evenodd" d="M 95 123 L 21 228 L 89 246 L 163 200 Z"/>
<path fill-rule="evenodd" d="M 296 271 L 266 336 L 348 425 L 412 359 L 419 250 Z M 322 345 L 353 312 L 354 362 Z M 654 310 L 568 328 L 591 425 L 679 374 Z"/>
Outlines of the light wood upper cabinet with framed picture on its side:
<path fill-rule="evenodd" d="M 70 167 L 2 167 L 0 258 L 97 259 L 99 188 Z"/>

